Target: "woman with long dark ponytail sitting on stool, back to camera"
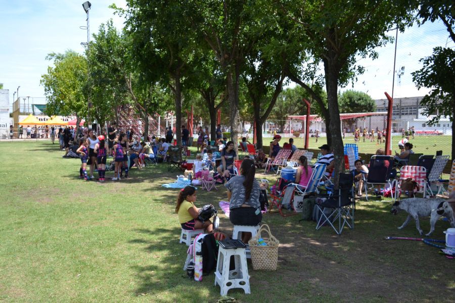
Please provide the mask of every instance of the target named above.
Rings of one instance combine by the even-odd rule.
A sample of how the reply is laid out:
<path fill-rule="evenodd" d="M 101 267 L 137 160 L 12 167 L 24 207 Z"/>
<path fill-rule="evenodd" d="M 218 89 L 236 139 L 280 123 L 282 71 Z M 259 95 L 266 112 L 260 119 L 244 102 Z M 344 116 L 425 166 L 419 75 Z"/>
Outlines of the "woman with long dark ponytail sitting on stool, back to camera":
<path fill-rule="evenodd" d="M 229 219 L 234 225 L 257 225 L 262 220 L 259 195 L 261 188 L 254 175 L 256 166 L 245 159 L 240 166 L 240 176 L 231 178 L 224 184 L 228 188 Z M 251 233 L 242 233 L 242 242 L 248 243 Z"/>

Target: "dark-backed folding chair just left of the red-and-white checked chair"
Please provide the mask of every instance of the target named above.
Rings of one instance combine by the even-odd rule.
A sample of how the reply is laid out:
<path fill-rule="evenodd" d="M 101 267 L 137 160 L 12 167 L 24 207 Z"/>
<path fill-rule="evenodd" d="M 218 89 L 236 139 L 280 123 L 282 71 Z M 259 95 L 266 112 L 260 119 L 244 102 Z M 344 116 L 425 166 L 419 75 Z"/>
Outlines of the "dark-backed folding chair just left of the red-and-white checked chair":
<path fill-rule="evenodd" d="M 372 189 L 374 185 L 388 185 L 392 188 L 392 170 L 394 158 L 393 156 L 373 156 L 370 159 L 370 165 L 368 167 L 368 176 L 363 180 L 363 187 L 365 188 L 365 196 L 368 201 L 368 189 Z M 368 185 L 373 185 L 368 188 Z M 393 200 L 393 195 L 392 195 Z"/>

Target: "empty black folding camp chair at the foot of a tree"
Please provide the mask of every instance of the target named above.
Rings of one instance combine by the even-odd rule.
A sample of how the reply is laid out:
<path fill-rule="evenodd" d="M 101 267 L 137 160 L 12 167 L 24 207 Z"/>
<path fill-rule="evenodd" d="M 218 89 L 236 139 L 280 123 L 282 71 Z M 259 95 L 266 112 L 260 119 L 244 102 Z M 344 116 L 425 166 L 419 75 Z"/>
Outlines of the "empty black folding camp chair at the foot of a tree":
<path fill-rule="evenodd" d="M 315 204 L 315 207 L 321 213 L 321 217 L 317 221 L 316 230 L 329 224 L 340 235 L 345 225 L 350 229 L 354 228 L 354 176 L 352 174 L 340 174 L 339 187 L 337 193 L 318 195 L 318 197 L 326 199 L 321 203 L 316 202 Z M 330 214 L 325 212 L 326 209 L 331 210 Z M 337 221 L 338 225 L 336 224 Z"/>

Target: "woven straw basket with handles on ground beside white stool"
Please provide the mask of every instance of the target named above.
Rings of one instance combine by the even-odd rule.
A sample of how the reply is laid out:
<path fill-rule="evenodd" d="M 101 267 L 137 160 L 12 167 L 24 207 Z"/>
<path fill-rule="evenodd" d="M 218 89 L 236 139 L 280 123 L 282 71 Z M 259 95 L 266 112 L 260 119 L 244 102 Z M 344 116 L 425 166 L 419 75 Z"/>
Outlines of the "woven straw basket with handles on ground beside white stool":
<path fill-rule="evenodd" d="M 262 235 L 262 232 L 266 232 L 268 237 Z M 262 238 L 267 245 L 259 245 L 257 242 L 259 238 Z M 251 262 L 254 270 L 277 270 L 280 241 L 271 234 L 267 224 L 261 225 L 256 237 L 249 240 L 248 244 L 250 245 Z"/>

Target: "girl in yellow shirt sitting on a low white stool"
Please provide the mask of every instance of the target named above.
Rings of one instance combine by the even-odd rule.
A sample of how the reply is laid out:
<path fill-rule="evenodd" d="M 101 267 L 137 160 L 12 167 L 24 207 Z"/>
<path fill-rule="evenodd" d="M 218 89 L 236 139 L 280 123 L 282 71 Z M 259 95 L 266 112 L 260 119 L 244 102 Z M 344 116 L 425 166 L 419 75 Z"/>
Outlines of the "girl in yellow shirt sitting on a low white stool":
<path fill-rule="evenodd" d="M 186 230 L 205 229 L 206 232 L 213 232 L 213 224 L 210 220 L 202 223 L 198 220 L 199 209 L 194 205 L 196 202 L 196 189 L 193 186 L 182 188 L 178 192 L 175 213 L 181 228 Z"/>

